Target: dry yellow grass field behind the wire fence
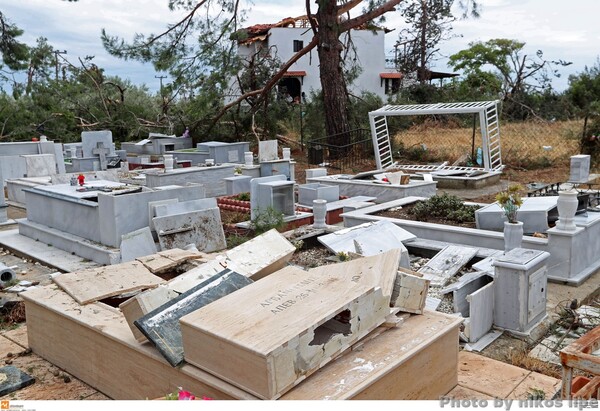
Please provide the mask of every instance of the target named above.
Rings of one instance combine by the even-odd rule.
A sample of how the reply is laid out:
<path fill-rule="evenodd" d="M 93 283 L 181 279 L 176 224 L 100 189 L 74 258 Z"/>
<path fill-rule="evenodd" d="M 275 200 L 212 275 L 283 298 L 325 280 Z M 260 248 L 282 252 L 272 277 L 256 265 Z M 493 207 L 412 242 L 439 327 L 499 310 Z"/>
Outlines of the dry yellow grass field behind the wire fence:
<path fill-rule="evenodd" d="M 453 163 L 471 154 L 472 128 L 424 123 L 394 135 L 394 147 L 405 150 L 427 147 L 431 156 Z M 569 163 L 569 157 L 579 154 L 581 121 L 501 123 L 500 142 L 503 164 L 540 168 Z M 481 146 L 481 132 L 475 132 L 475 146 Z"/>

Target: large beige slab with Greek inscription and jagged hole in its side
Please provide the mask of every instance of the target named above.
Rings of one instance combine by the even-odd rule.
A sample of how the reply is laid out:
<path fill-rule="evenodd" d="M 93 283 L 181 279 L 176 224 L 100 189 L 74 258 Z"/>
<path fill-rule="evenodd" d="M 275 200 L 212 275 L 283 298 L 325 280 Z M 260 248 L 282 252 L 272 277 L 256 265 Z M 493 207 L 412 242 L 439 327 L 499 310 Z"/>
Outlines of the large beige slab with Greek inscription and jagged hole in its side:
<path fill-rule="evenodd" d="M 185 360 L 278 398 L 385 321 L 399 258 L 273 273 L 183 317 Z"/>

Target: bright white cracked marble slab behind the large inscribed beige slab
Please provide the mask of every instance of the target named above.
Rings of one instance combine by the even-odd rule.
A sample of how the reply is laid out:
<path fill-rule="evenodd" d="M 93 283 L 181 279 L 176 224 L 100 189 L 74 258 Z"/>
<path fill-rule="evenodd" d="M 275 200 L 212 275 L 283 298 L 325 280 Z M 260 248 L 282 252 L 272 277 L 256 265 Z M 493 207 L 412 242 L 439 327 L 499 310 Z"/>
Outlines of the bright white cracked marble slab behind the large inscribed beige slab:
<path fill-rule="evenodd" d="M 400 248 L 402 250 L 401 267 L 410 268 L 408 250 L 403 242 L 415 239 L 416 236 L 389 221 L 364 223 L 345 228 L 318 238 L 329 251 L 334 254 L 357 253 L 368 257 L 382 252 Z"/>

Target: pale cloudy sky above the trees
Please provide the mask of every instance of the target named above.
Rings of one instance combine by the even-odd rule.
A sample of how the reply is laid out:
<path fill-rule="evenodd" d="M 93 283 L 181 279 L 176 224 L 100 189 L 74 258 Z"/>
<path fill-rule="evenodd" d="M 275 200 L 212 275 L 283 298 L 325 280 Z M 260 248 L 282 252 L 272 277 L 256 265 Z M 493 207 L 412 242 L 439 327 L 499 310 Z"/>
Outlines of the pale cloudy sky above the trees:
<path fill-rule="evenodd" d="M 568 86 L 568 75 L 581 73 L 593 66 L 600 55 L 600 1 L 598 0 L 479 0 L 479 19 L 454 23 L 454 34 L 460 35 L 440 44 L 449 56 L 468 48 L 470 42 L 493 38 L 508 38 L 525 42 L 524 52 L 534 55 L 544 52 L 548 60 L 566 60 L 573 64 L 559 68 L 561 78 L 553 87 L 562 91 Z M 110 35 L 131 40 L 135 33 L 159 33 L 168 23 L 177 21 L 181 11 L 171 12 L 168 0 L 0 0 L 0 10 L 25 31 L 21 40 L 34 45 L 38 37 L 46 37 L 56 50 L 71 63 L 78 58 L 94 57 L 94 63 L 105 74 L 128 78 L 134 84 L 145 84 L 158 91 L 164 75 L 150 64 L 125 61 L 110 56 L 102 47 L 100 33 L 105 28 Z M 254 0 L 247 25 L 273 23 L 285 17 L 305 14 L 301 0 Z M 359 6 L 360 7 L 360 6 Z M 385 26 L 395 29 L 386 37 L 386 52 L 398 38 L 403 19 L 400 13 L 388 13 Z M 442 58 L 433 63 L 435 70 L 451 71 Z M 168 83 L 169 78 L 163 80 Z"/>

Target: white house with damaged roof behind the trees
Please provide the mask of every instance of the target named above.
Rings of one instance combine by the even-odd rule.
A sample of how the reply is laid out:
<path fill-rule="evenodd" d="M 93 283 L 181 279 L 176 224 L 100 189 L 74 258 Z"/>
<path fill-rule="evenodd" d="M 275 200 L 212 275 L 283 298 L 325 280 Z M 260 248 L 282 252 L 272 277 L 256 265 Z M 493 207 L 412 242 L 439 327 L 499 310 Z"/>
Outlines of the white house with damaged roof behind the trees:
<path fill-rule="evenodd" d="M 313 34 L 306 16 L 287 18 L 275 24 L 259 24 L 244 29 L 247 37 L 238 41 L 238 55 L 249 59 L 261 51 L 271 53 L 282 63 L 310 43 Z M 350 92 L 360 94 L 368 91 L 386 99 L 386 94 L 398 91 L 402 74 L 386 68 L 384 29 L 353 29 L 340 38 L 343 44 L 350 36 L 353 47 L 346 55 L 346 62 L 356 64 L 360 74 L 349 85 Z M 230 100 L 240 95 L 239 87 L 233 85 Z M 295 62 L 278 85 L 278 91 L 286 98 L 298 100 L 311 91 L 321 88 L 319 56 L 316 48 Z M 287 96 L 286 93 L 289 93 Z"/>

